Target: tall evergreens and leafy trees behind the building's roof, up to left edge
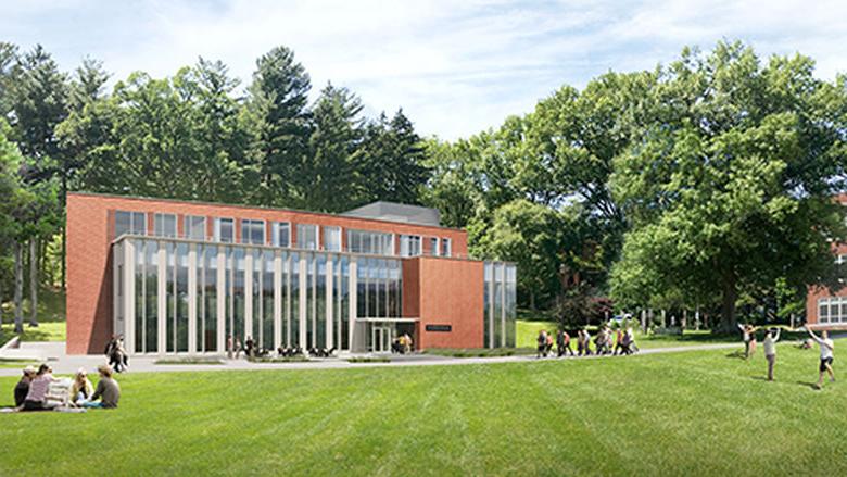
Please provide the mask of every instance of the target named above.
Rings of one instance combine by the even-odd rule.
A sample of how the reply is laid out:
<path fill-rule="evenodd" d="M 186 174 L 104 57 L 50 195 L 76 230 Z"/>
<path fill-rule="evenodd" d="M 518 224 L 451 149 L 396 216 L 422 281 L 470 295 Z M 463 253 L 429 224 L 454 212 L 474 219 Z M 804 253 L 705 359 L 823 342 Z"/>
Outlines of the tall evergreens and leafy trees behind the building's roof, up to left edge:
<path fill-rule="evenodd" d="M 13 289 L 18 327 L 25 283 L 31 301 L 39 269 L 64 285 L 68 190 L 339 212 L 419 203 L 429 177 L 402 111 L 364 117 L 355 93 L 331 84 L 309 101 L 309 76 L 285 47 L 256 61 L 245 88 L 204 59 L 167 78 L 134 73 L 111 92 L 109 80 L 98 61 L 68 74 L 40 46 L 0 43 L 0 302 Z M 48 243 L 56 253 L 45 260 Z"/>

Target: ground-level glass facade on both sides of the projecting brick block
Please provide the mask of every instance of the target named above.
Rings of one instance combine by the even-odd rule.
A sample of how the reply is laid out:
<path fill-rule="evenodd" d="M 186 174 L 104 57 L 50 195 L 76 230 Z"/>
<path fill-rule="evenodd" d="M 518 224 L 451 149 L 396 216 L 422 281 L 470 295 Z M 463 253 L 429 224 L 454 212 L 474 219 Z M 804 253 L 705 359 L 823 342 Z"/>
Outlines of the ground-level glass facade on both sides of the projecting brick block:
<path fill-rule="evenodd" d="M 116 250 L 126 251 L 118 279 L 130 281 L 115 293 L 135 294 L 116 298 L 134 353 L 220 353 L 230 336 L 242 348 L 252 338 L 264 349 L 383 351 L 376 339 L 414 330 L 400 259 L 174 238 L 127 237 Z M 484 264 L 486 347 L 515 346 L 515 286 L 514 265 Z"/>

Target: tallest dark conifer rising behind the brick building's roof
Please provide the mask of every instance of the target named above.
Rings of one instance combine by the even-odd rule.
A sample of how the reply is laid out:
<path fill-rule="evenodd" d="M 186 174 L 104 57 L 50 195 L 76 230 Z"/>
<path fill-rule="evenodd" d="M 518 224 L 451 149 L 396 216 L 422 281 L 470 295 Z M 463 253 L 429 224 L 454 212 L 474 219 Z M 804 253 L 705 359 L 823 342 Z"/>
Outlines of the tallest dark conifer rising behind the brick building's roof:
<path fill-rule="evenodd" d="M 252 154 L 258 175 L 251 202 L 288 204 L 302 190 L 304 178 L 295 171 L 307 153 L 311 88 L 306 70 L 286 47 L 274 48 L 256 62 L 253 83 L 248 88 L 254 128 Z"/>

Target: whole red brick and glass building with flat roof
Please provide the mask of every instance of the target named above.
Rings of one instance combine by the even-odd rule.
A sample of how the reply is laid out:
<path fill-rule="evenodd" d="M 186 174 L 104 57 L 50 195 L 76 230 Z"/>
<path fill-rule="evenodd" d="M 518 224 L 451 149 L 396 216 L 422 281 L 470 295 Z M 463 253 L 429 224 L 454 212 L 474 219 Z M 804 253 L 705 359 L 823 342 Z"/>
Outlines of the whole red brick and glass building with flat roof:
<path fill-rule="evenodd" d="M 92 193 L 67 197 L 67 352 L 384 352 L 515 346 L 515 266 L 468 259 L 437 211 L 343 214 Z"/>

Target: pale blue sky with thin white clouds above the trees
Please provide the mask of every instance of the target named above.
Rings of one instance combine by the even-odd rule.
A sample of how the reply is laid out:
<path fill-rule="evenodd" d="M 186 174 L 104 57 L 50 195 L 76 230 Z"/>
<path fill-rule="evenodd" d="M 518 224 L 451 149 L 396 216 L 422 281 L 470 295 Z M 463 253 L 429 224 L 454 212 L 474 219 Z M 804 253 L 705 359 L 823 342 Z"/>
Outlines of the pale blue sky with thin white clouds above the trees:
<path fill-rule="evenodd" d="M 332 81 L 367 115 L 403 108 L 419 134 L 451 140 L 531 112 L 565 84 L 721 39 L 812 57 L 822 79 L 847 73 L 844 0 L 5 0 L 0 12 L 0 40 L 41 43 L 67 71 L 102 60 L 114 80 L 170 76 L 203 57 L 246 86 L 256 59 L 285 45 L 313 98 Z"/>

